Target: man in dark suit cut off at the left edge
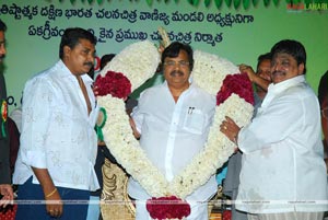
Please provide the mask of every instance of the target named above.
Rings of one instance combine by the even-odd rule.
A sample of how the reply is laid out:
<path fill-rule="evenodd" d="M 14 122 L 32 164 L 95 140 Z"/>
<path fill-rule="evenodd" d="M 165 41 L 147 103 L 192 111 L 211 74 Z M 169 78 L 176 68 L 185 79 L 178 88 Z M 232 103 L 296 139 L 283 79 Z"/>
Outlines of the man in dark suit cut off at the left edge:
<path fill-rule="evenodd" d="M 5 37 L 7 31 L 5 24 L 0 20 L 0 65 L 5 56 Z M 11 187 L 11 174 L 10 174 L 10 146 L 9 146 L 9 132 L 8 132 L 8 106 L 7 106 L 7 91 L 3 73 L 0 72 L 0 209 L 5 207 L 11 200 L 13 200 L 13 192 Z"/>

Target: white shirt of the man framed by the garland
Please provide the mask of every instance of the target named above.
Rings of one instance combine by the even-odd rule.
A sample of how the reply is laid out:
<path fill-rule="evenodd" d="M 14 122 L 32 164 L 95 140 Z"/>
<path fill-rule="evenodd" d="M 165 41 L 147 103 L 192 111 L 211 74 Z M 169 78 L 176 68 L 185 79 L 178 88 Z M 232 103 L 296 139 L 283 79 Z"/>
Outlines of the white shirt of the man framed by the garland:
<path fill-rule="evenodd" d="M 167 181 L 179 174 L 197 155 L 207 141 L 215 111 L 215 97 L 194 83 L 175 103 L 167 83 L 145 90 L 132 117 L 141 134 L 140 146 Z M 130 196 L 150 197 L 130 178 Z M 189 199 L 202 201 L 216 192 L 214 176 L 192 193 Z M 188 198 L 187 197 L 187 198 Z"/>

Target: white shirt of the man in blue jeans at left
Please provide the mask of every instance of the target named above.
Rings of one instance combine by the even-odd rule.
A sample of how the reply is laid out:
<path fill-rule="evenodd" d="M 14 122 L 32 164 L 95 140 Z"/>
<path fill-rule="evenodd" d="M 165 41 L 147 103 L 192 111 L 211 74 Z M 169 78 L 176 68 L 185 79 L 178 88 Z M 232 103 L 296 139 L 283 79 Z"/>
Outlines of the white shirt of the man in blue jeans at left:
<path fill-rule="evenodd" d="M 14 184 L 24 184 L 32 175 L 38 183 L 33 166 L 47 169 L 56 186 L 98 188 L 94 172 L 98 108 L 92 79 L 84 74 L 82 80 L 92 105 L 90 115 L 77 77 L 61 60 L 26 82 Z"/>

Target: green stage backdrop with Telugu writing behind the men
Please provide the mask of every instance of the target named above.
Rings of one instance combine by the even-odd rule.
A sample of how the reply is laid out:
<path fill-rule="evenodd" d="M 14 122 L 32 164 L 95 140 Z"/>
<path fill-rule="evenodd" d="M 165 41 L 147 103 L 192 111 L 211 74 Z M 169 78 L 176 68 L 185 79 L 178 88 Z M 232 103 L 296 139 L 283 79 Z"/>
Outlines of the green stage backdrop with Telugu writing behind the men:
<path fill-rule="evenodd" d="M 194 49 L 254 68 L 258 55 L 269 51 L 278 40 L 297 39 L 306 47 L 306 78 L 315 91 L 328 69 L 327 0 L 311 4 L 226 0 L 220 9 L 215 5 L 222 2 L 219 0 L 194 1 L 196 5 L 187 0 L 91 2 L 1 0 L 0 18 L 8 25 L 4 76 L 10 111 L 20 106 L 26 80 L 59 59 L 60 35 L 72 26 L 91 30 L 96 35 L 98 57 L 118 53 L 138 40 L 149 39 L 159 45 L 157 27 L 163 26 L 171 40 L 185 42 Z M 242 3 L 234 7 L 234 2 Z M 247 9 L 243 2 L 250 2 Z"/>

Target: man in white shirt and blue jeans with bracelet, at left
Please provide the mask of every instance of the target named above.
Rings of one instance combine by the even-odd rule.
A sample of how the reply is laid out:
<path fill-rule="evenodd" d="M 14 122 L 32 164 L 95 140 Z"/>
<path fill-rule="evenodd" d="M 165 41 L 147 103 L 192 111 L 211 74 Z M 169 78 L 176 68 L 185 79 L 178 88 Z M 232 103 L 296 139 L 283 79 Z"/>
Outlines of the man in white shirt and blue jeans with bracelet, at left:
<path fill-rule="evenodd" d="M 93 167 L 98 108 L 86 74 L 95 45 L 92 33 L 67 28 L 59 61 L 25 84 L 13 182 L 20 200 L 40 202 L 19 204 L 17 220 L 86 219 L 90 190 L 98 188 Z"/>

